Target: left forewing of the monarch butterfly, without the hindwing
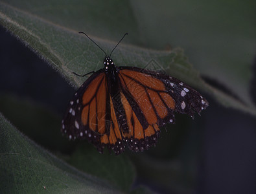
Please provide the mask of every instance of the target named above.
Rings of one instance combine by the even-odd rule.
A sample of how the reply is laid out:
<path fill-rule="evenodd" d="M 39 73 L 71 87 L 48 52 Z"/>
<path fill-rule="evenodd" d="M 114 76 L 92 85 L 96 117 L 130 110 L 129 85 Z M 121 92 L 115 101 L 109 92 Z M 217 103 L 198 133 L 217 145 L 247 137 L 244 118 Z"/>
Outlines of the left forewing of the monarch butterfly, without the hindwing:
<path fill-rule="evenodd" d="M 93 144 L 106 131 L 108 88 L 103 70 L 93 73 L 75 92 L 62 120 L 62 132 L 69 139 L 87 138 Z"/>

